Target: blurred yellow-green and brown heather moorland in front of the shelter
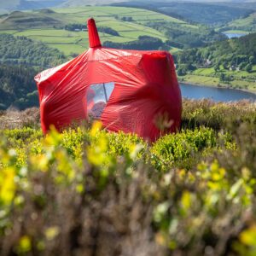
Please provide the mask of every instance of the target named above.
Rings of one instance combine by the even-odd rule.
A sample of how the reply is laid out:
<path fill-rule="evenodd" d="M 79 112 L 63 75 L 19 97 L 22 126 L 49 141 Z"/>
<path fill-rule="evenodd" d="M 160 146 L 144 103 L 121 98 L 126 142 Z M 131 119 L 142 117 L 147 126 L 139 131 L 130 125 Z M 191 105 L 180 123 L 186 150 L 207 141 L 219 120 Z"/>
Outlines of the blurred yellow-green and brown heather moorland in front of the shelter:
<path fill-rule="evenodd" d="M 153 144 L 0 114 L 1 255 L 255 255 L 256 105 L 183 101 Z"/>

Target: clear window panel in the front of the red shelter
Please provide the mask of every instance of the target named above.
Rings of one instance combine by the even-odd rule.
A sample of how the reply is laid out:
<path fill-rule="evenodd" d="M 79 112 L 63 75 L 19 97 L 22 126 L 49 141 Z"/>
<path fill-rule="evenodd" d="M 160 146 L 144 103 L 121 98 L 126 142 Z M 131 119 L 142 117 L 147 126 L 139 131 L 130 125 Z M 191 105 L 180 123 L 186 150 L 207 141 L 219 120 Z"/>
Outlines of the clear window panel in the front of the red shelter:
<path fill-rule="evenodd" d="M 113 92 L 114 83 L 90 84 L 87 89 L 87 113 L 92 119 L 100 119 Z"/>

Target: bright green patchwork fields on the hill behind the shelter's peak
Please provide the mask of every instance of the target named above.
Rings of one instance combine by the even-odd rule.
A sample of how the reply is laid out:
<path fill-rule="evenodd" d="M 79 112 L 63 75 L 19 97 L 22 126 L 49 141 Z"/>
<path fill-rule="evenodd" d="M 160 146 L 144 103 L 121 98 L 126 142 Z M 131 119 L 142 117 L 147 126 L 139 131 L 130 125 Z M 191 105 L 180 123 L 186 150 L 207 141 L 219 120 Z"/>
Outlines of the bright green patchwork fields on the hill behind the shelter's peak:
<path fill-rule="evenodd" d="M 119 32 L 119 37 L 100 33 L 102 43 L 113 41 L 125 43 L 136 40 L 139 36 L 150 36 L 166 41 L 166 37 L 154 28 L 146 26 L 148 21 L 169 21 L 187 29 L 195 29 L 183 20 L 167 15 L 133 8 L 122 7 L 84 7 L 15 12 L 0 21 L 0 33 L 12 33 L 42 41 L 51 47 L 60 49 L 66 55 L 79 54 L 88 48 L 87 32 L 69 32 L 61 28 L 70 23 L 86 24 L 93 17 L 97 26 L 109 26 Z M 132 22 L 121 20 L 131 17 Z M 55 26 L 55 27 L 54 27 Z M 177 51 L 173 48 L 172 52 Z"/>

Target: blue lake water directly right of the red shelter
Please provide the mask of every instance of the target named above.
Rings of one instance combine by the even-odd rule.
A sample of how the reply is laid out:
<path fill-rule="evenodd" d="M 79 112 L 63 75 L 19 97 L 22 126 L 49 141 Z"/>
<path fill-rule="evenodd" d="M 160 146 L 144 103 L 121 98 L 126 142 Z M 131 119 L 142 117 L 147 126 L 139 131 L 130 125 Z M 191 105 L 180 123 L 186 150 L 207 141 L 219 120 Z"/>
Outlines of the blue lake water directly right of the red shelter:
<path fill-rule="evenodd" d="M 189 99 L 210 98 L 214 102 L 236 102 L 246 99 L 256 102 L 256 94 L 247 91 L 183 83 L 179 85 L 182 96 Z"/>

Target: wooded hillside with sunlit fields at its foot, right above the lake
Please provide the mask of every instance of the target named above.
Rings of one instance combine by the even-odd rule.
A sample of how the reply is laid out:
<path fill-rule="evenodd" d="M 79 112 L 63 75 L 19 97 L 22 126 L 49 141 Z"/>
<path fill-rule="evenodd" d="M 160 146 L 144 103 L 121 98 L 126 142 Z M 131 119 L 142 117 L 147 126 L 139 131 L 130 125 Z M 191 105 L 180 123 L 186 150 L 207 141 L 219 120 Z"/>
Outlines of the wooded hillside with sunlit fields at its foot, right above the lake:
<path fill-rule="evenodd" d="M 256 33 L 180 52 L 176 61 L 185 82 L 256 90 Z"/>

